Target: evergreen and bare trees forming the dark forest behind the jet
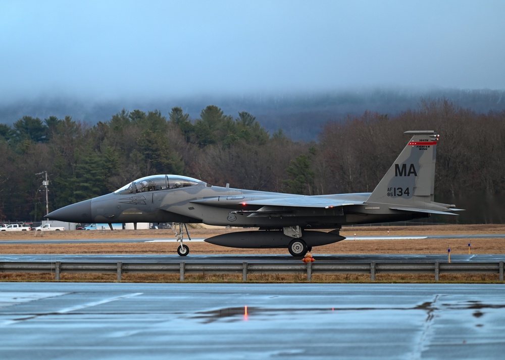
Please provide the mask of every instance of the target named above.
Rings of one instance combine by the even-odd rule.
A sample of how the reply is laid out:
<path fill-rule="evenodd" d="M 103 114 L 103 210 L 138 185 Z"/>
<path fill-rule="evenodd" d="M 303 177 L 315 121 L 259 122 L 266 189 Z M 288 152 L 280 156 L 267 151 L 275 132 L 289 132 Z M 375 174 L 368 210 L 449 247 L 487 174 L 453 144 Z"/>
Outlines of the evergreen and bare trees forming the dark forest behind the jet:
<path fill-rule="evenodd" d="M 93 126 L 71 116 L 23 116 L 0 124 L 0 221 L 42 219 L 43 171 L 49 211 L 164 173 L 305 195 L 371 192 L 409 140 L 407 130 L 440 134 L 435 201 L 468 209 L 435 220 L 505 220 L 505 111 L 480 114 L 442 98 L 391 117 L 366 111 L 328 121 L 317 142 L 269 134 L 254 115 L 234 117 L 215 105 L 196 119 L 180 107 L 168 117 L 122 110 Z"/>

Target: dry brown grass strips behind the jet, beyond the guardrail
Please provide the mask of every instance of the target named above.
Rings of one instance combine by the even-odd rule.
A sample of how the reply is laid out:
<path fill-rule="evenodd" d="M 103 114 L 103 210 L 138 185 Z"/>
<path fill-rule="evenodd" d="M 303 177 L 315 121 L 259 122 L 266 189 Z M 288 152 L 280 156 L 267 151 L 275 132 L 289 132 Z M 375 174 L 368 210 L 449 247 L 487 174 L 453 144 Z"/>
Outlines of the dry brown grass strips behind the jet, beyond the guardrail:
<path fill-rule="evenodd" d="M 191 229 L 192 237 L 209 237 L 224 232 L 242 231 L 236 228 Z M 357 236 L 397 236 L 430 234 L 489 234 L 505 233 L 505 225 L 425 225 L 425 226 L 363 226 L 344 228 L 342 242 L 316 247 L 317 254 L 468 254 L 468 240 L 408 239 L 408 240 L 359 240 Z M 68 239 L 61 244 L 30 244 L 30 239 Z M 90 230 L 90 231 L 19 231 L 0 233 L 0 254 L 172 254 L 176 243 L 117 243 L 74 244 L 74 239 L 96 238 L 174 238 L 173 230 Z M 4 240 L 26 239 L 26 244 L 2 244 Z M 191 254 L 288 254 L 287 249 L 235 249 L 207 243 L 187 242 Z M 505 254 L 505 239 L 475 238 L 471 241 L 472 254 Z"/>

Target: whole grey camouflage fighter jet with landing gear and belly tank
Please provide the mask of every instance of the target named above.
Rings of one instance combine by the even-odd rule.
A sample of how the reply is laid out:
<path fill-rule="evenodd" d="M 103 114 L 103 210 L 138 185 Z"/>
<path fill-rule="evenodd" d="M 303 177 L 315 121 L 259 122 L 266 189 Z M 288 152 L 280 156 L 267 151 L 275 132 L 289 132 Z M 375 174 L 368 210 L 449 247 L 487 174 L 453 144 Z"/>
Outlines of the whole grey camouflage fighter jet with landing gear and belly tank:
<path fill-rule="evenodd" d="M 173 222 L 180 256 L 189 254 L 183 243 L 183 225 L 189 237 L 187 223 L 258 228 L 205 241 L 232 248 L 287 248 L 292 256 L 304 256 L 313 247 L 343 240 L 342 225 L 456 215 L 461 210 L 433 201 L 439 135 L 405 134 L 411 140 L 372 193 L 306 196 L 218 187 L 181 175 L 151 175 L 45 217 L 80 223 Z"/>

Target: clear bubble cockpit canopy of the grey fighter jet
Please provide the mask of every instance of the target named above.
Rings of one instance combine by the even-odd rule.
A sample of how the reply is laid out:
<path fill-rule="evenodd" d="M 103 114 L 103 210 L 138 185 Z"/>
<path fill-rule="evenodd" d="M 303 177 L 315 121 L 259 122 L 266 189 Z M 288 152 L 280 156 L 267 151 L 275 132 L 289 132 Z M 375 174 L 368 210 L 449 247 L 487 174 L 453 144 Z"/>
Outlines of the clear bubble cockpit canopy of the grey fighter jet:
<path fill-rule="evenodd" d="M 148 191 L 158 191 L 167 189 L 186 188 L 194 186 L 201 181 L 181 175 L 150 175 L 141 177 L 125 185 L 121 189 L 116 190 L 116 194 L 137 194 Z M 206 186 L 210 186 L 207 185 Z"/>

